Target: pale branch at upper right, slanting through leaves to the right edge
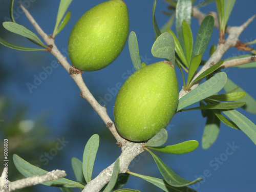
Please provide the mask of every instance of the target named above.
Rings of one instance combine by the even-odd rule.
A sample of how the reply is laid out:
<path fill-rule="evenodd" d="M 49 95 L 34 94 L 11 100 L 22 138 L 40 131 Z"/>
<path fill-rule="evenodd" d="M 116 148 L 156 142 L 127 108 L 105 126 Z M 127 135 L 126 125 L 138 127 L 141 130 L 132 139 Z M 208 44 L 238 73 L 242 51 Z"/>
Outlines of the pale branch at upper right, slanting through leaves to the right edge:
<path fill-rule="evenodd" d="M 195 8 L 193 8 L 194 11 Z M 199 10 L 197 10 L 197 15 L 202 15 Z M 193 14 L 194 15 L 194 14 Z M 238 38 L 240 34 L 244 31 L 244 29 L 252 22 L 252 20 L 255 18 L 256 15 L 253 15 L 251 18 L 249 18 L 243 25 L 239 27 L 229 27 L 226 32 L 229 33 L 226 41 L 223 44 L 218 44 L 216 51 L 210 56 L 209 60 L 205 63 L 205 65 L 197 72 L 197 74 L 191 79 L 191 82 L 193 82 L 200 74 L 202 74 L 205 70 L 209 69 L 212 65 L 211 63 L 217 63 L 221 60 L 224 53 L 231 47 L 235 47 L 238 42 Z M 200 17 L 201 19 L 201 17 Z M 202 80 L 202 79 L 201 79 Z M 189 90 L 186 90 L 182 88 L 182 90 L 179 93 L 179 99 L 189 93 L 190 91 L 194 90 L 198 87 L 201 80 L 197 81 Z"/>

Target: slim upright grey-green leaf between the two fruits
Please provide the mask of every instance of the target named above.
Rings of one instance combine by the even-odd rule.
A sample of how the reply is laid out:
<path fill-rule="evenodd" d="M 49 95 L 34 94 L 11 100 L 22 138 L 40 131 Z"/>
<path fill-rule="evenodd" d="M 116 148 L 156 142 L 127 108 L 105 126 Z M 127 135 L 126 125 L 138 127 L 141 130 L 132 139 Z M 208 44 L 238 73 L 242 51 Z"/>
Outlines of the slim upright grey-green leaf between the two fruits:
<path fill-rule="evenodd" d="M 134 31 L 132 31 L 129 35 L 128 45 L 129 45 L 129 51 L 130 51 L 130 56 L 133 62 L 133 66 L 135 70 L 138 71 L 139 69 L 142 68 L 142 66 L 140 61 L 140 53 L 139 53 L 137 36 Z"/>

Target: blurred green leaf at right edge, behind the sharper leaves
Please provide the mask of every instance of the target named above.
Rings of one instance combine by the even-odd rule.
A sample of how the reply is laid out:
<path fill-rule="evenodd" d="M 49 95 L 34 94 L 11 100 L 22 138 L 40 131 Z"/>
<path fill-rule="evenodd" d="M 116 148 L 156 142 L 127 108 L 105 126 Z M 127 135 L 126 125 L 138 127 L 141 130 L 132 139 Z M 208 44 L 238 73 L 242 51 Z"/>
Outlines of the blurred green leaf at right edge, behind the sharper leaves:
<path fill-rule="evenodd" d="M 235 88 L 237 88 L 237 84 L 231 81 L 229 78 L 227 78 L 227 82 L 224 86 L 224 90 L 226 92 L 229 92 Z M 244 91 L 242 88 L 238 88 L 238 91 Z M 256 100 L 251 97 L 248 93 L 242 98 L 237 101 L 246 102 L 246 104 L 243 106 L 243 109 L 249 113 L 256 114 Z"/>

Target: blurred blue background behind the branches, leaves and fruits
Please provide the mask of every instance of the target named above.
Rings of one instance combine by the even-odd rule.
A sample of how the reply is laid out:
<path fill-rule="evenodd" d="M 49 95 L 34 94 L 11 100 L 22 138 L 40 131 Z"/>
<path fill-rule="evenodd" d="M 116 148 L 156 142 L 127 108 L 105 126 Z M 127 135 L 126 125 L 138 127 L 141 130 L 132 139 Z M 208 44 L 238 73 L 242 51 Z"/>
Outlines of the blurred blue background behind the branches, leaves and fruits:
<path fill-rule="evenodd" d="M 0 1 L 2 7 L 2 22 L 4 17 L 9 17 L 9 1 Z M 59 1 L 20 1 L 27 3 L 28 10 L 34 16 L 41 28 L 48 34 L 52 34 L 55 26 L 56 14 Z M 56 45 L 63 54 L 67 53 L 68 37 L 79 17 L 93 6 L 104 2 L 77 1 L 74 0 L 69 8 L 72 12 L 70 22 L 63 31 L 55 38 Z M 135 31 L 138 38 L 141 60 L 146 64 L 157 62 L 161 59 L 154 58 L 151 48 L 154 43 L 154 29 L 152 25 L 153 0 L 126 0 L 126 5 L 130 16 L 130 32 Z M 200 1 L 196 1 L 198 4 Z M 166 11 L 167 4 L 164 1 L 157 1 L 156 18 L 159 26 L 164 25 L 168 17 L 161 13 Z M 237 26 L 243 24 L 249 17 L 255 14 L 255 1 L 237 1 L 230 15 L 228 25 Z M 19 12 L 17 2 L 14 10 Z M 201 7 L 204 13 L 216 11 L 215 3 Z M 25 25 L 28 29 L 35 31 L 23 13 L 17 13 L 16 22 Z M 256 38 L 256 20 L 241 34 L 242 42 L 251 41 Z M 1 28 L 2 25 L 1 25 Z M 193 18 L 191 29 L 194 41 L 198 31 L 198 20 Z M 175 29 L 173 28 L 175 31 Z M 2 30 L 3 31 L 3 30 Z M 7 36 L 4 31 L 1 37 L 15 42 L 18 45 L 33 47 L 26 38 L 17 35 Z M 214 29 L 209 45 L 217 44 L 219 31 Z M 209 47 L 210 47 L 209 46 Z M 252 45 L 255 48 L 254 45 Z M 208 59 L 209 48 L 206 50 L 203 59 Z M 224 58 L 236 55 L 247 54 L 231 48 Z M 71 169 L 70 160 L 72 157 L 82 159 L 83 148 L 87 140 L 93 134 L 99 134 L 100 145 L 95 161 L 93 177 L 97 176 L 101 170 L 109 166 L 119 156 L 121 150 L 115 144 L 114 137 L 109 133 L 103 121 L 93 111 L 88 102 L 79 96 L 79 89 L 70 78 L 65 69 L 60 66 L 53 69 L 52 73 L 42 80 L 36 89 L 29 91 L 27 83 L 32 83 L 35 76 L 44 72 L 44 68 L 51 66 L 56 59 L 47 52 L 22 52 L 12 50 L 0 45 L 0 57 L 8 78 L 1 85 L 1 96 L 6 96 L 13 100 L 14 106 L 20 104 L 28 105 L 27 119 L 34 119 L 38 115 L 47 115 L 47 124 L 51 127 L 50 138 L 56 139 L 65 137 L 69 143 L 63 148 L 61 154 L 65 156 L 54 157 L 47 165 L 42 166 L 46 170 L 65 169 L 68 179 L 75 179 Z M 67 56 L 68 61 L 69 58 Z M 113 106 L 119 84 L 128 77 L 128 73 L 133 70 L 132 61 L 126 44 L 120 56 L 109 66 L 96 72 L 84 72 L 83 79 L 88 88 L 101 103 L 106 105 L 108 114 L 113 118 Z M 179 70 L 176 70 L 179 87 L 182 88 L 182 78 Z M 225 71 L 228 77 L 236 82 L 241 88 L 256 98 L 255 91 L 255 69 L 230 68 Z M 256 123 L 255 115 L 239 109 L 253 123 Z M 0 118 L 1 119 L 1 118 Z M 176 114 L 168 127 L 168 141 L 166 145 L 176 144 L 185 140 L 198 140 L 200 145 L 196 151 L 183 155 L 170 155 L 157 153 L 163 161 L 169 165 L 181 177 L 194 180 L 204 176 L 205 179 L 193 185 L 198 191 L 255 191 L 255 168 L 256 153 L 255 145 L 241 131 L 233 130 L 223 123 L 217 141 L 208 150 L 201 147 L 201 138 L 206 119 L 202 118 L 200 111 L 188 111 Z M 36 129 L 36 127 L 35 127 Z M 233 148 L 233 153 L 228 147 Z M 229 154 L 229 155 L 227 155 Z M 38 157 L 39 158 L 39 157 Z M 218 160 L 220 159 L 220 160 Z M 132 172 L 162 178 L 153 158 L 144 152 L 131 163 Z M 150 183 L 131 176 L 127 188 L 139 189 L 141 191 L 162 191 Z M 60 191 L 59 189 L 39 186 L 38 191 Z"/>

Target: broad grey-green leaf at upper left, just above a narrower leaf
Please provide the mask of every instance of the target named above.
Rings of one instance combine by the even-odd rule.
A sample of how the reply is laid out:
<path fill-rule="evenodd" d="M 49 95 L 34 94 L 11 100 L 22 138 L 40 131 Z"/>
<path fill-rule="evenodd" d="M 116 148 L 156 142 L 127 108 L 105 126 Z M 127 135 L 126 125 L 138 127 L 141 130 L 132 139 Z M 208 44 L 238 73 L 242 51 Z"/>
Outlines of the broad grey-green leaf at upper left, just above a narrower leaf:
<path fill-rule="evenodd" d="M 16 23 L 13 23 L 13 22 L 4 22 L 3 26 L 4 26 L 4 28 L 6 28 L 9 31 L 16 33 L 18 35 L 27 37 L 27 38 L 31 39 L 32 41 L 35 41 L 37 43 L 37 45 L 47 48 L 44 45 L 44 43 L 36 36 L 36 34 L 33 33 L 32 31 L 28 30 L 26 27 L 16 24 Z"/>

